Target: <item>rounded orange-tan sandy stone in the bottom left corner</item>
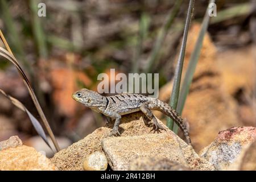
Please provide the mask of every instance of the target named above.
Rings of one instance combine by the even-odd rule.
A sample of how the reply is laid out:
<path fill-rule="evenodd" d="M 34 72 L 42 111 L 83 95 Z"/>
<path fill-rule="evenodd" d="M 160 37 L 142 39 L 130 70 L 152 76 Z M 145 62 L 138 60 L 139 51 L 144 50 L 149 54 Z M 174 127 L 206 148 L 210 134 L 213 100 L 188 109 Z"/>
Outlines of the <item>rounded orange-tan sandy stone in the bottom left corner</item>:
<path fill-rule="evenodd" d="M 46 156 L 32 147 L 17 146 L 0 151 L 0 171 L 55 170 Z"/>

